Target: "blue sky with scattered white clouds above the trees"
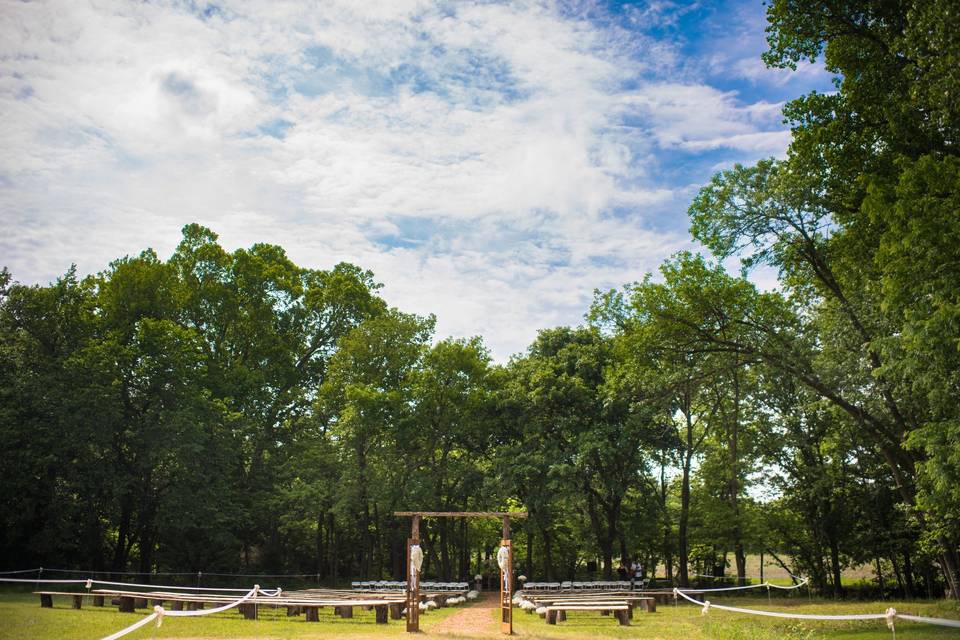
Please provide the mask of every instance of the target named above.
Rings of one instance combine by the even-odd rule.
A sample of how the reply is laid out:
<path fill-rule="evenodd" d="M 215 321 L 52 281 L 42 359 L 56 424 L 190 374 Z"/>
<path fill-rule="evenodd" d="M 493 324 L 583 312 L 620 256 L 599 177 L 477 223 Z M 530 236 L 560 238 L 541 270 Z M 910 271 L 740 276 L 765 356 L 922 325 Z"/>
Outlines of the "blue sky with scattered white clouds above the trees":
<path fill-rule="evenodd" d="M 784 153 L 783 102 L 832 85 L 764 68 L 764 26 L 743 1 L 7 3 L 0 264 L 44 283 L 200 222 L 372 269 L 502 361 L 696 249 L 712 173 Z"/>

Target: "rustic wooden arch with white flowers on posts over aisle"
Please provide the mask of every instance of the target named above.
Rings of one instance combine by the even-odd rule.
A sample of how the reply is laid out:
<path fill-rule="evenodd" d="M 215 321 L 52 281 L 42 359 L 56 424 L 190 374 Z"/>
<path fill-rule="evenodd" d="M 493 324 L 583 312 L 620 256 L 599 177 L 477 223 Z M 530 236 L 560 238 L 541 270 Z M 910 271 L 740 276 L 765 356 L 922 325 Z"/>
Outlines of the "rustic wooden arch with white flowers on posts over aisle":
<path fill-rule="evenodd" d="M 410 517 L 410 538 L 407 539 L 407 631 L 420 631 L 420 572 L 410 564 L 410 549 L 420 544 L 422 518 L 498 518 L 503 522 L 500 546 L 507 548 L 507 568 L 500 570 L 500 631 L 513 634 L 513 546 L 510 540 L 510 518 L 526 518 L 526 511 L 397 511 L 393 515 Z"/>

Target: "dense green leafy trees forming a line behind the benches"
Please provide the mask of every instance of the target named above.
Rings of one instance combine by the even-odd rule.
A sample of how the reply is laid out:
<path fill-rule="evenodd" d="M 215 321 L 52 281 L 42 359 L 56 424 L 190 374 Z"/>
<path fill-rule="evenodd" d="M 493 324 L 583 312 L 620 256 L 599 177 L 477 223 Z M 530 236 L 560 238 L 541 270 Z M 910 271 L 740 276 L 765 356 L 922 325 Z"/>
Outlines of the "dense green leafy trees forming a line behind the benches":
<path fill-rule="evenodd" d="M 957 593 L 960 29 L 947 1 L 768 8 L 766 62 L 837 91 L 781 160 L 690 208 L 712 256 L 598 292 L 491 363 L 373 274 L 185 227 L 49 286 L 0 283 L 0 563 L 402 577 L 397 510 L 523 508 L 520 570 L 639 559 L 686 585 L 763 552 L 823 593 L 872 564 Z M 761 292 L 722 262 L 775 269 Z M 428 521 L 425 568 L 492 571 L 496 522 Z"/>

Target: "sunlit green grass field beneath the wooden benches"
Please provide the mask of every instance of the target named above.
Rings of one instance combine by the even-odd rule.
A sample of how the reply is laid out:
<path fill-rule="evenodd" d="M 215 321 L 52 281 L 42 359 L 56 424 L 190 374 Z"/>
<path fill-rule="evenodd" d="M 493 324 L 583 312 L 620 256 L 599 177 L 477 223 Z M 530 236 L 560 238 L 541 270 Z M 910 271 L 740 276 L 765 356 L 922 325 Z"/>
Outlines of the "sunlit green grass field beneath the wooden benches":
<path fill-rule="evenodd" d="M 806 598 L 774 599 L 773 606 L 766 598 L 711 598 L 717 604 L 734 603 L 737 606 L 795 611 L 798 613 L 878 613 L 888 606 L 898 611 L 918 615 L 960 619 L 960 607 L 952 602 L 809 602 Z M 445 634 L 432 633 L 431 628 L 461 608 L 431 611 L 421 618 L 424 635 L 442 637 L 498 637 L 499 634 L 477 634 L 463 629 Z M 29 638 L 36 640 L 73 640 L 102 638 L 139 620 L 146 613 L 119 613 L 115 608 L 84 606 L 80 611 L 70 608 L 68 599 L 54 600 L 53 609 L 41 609 L 39 600 L 31 594 L 0 595 L 0 638 Z M 168 618 L 159 629 L 152 624 L 126 636 L 133 640 L 145 638 L 332 638 L 350 640 L 368 638 L 403 638 L 403 623 L 391 621 L 376 625 L 372 612 L 357 611 L 353 620 L 334 618 L 329 609 L 321 611 L 321 622 L 307 623 L 304 619 L 288 619 L 283 610 L 262 611 L 259 620 L 244 620 L 235 612 L 199 618 Z M 492 612 L 491 616 L 495 615 Z M 800 622 L 769 618 L 747 617 L 712 610 L 700 614 L 693 605 L 661 605 L 654 614 L 637 612 L 632 626 L 620 627 L 612 617 L 594 613 L 571 613 L 566 622 L 547 625 L 539 616 L 519 610 L 514 613 L 516 635 L 524 638 L 637 638 L 658 640 L 889 640 L 892 634 L 882 621 L 869 622 Z M 897 623 L 897 638 L 957 638 L 956 629 L 929 625 Z"/>

